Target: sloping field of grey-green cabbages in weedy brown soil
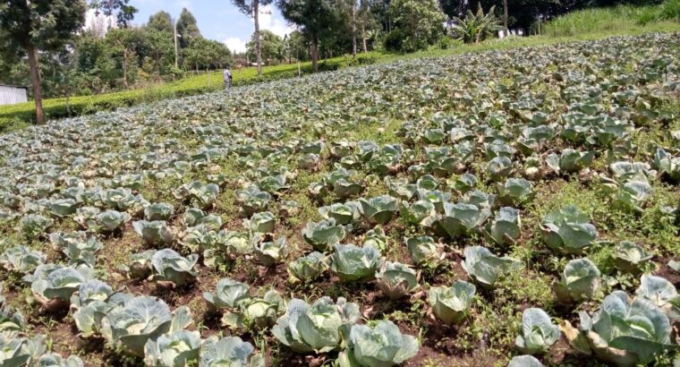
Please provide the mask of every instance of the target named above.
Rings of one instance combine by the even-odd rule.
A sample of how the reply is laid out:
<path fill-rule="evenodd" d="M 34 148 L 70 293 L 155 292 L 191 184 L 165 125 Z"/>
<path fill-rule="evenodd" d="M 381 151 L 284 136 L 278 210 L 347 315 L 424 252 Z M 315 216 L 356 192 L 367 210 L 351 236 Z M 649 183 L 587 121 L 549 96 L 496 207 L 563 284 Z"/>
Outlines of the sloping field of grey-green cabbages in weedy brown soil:
<path fill-rule="evenodd" d="M 2 135 L 0 365 L 673 365 L 679 116 L 676 33 Z"/>

